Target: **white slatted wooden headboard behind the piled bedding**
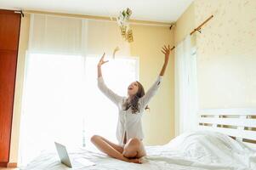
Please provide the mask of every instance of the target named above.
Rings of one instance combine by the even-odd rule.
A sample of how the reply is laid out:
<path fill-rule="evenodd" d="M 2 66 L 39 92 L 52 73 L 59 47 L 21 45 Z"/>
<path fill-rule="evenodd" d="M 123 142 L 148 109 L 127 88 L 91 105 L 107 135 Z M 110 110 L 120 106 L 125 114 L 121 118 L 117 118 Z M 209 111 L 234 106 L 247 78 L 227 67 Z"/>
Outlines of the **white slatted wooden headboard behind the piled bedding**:
<path fill-rule="evenodd" d="M 256 150 L 256 108 L 198 111 L 199 129 L 225 133 Z"/>

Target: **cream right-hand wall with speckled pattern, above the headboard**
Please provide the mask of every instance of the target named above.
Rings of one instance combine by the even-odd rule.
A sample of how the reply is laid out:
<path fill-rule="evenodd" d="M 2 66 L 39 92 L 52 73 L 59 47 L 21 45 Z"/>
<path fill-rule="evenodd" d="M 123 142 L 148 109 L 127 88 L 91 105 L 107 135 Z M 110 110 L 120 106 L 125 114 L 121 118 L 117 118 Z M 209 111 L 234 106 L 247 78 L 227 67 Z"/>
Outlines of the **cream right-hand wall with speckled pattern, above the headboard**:
<path fill-rule="evenodd" d="M 195 0 L 177 21 L 175 42 L 214 15 L 196 33 L 199 109 L 255 107 L 255 7 L 254 0 Z"/>

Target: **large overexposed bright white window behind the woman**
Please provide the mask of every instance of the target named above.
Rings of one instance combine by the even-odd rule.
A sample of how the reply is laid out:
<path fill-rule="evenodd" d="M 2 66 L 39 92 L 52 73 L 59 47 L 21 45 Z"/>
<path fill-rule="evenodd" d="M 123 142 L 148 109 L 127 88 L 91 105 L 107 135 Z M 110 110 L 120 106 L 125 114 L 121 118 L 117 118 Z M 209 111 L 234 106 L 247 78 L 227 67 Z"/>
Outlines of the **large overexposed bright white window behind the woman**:
<path fill-rule="evenodd" d="M 20 132 L 20 165 L 26 165 L 54 141 L 88 147 L 99 134 L 116 139 L 117 107 L 97 87 L 100 57 L 30 54 Z M 102 66 L 109 88 L 126 96 L 128 84 L 138 80 L 137 58 L 117 58 Z"/>

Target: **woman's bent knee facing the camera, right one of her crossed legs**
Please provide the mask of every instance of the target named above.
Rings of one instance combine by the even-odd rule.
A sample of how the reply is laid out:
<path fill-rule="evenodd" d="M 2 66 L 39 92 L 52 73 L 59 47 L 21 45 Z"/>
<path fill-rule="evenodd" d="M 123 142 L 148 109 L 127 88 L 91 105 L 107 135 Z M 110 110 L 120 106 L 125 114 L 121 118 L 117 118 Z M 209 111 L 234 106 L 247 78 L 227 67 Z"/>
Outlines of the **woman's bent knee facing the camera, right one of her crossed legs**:
<path fill-rule="evenodd" d="M 124 145 L 122 155 L 128 158 L 140 158 L 145 156 L 145 147 L 139 139 L 129 139 Z"/>

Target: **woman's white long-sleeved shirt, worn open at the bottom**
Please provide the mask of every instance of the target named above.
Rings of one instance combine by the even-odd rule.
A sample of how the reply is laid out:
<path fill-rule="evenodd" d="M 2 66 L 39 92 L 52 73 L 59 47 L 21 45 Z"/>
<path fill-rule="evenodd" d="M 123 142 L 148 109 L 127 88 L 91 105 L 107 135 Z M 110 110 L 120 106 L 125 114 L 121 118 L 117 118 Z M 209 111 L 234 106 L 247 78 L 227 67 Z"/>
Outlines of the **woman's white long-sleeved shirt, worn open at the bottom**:
<path fill-rule="evenodd" d="M 144 139 L 144 133 L 142 130 L 141 116 L 145 110 L 146 105 L 148 105 L 151 98 L 156 94 L 159 88 L 162 77 L 158 76 L 156 82 L 152 87 L 145 93 L 143 97 L 139 99 L 139 112 L 132 113 L 131 108 L 127 111 L 123 109 L 123 103 L 126 101 L 127 97 L 122 97 L 115 94 L 110 88 L 105 86 L 103 77 L 98 77 L 98 87 L 101 92 L 105 94 L 108 99 L 117 105 L 118 107 L 118 122 L 117 122 L 117 140 L 120 145 L 123 145 L 124 134 L 126 132 L 126 139 Z"/>

